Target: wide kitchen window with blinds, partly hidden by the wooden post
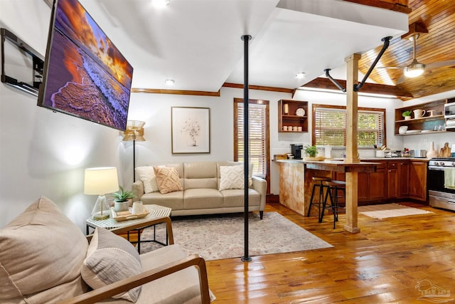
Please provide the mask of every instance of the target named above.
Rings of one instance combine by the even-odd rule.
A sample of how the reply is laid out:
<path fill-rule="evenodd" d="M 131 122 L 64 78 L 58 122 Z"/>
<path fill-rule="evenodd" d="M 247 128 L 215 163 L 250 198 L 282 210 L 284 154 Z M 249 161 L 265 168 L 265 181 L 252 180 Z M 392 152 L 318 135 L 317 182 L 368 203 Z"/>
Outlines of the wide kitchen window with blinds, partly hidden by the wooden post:
<path fill-rule="evenodd" d="M 346 107 L 313 105 L 312 145 L 346 147 Z M 385 109 L 358 109 L 358 147 L 385 145 Z"/>

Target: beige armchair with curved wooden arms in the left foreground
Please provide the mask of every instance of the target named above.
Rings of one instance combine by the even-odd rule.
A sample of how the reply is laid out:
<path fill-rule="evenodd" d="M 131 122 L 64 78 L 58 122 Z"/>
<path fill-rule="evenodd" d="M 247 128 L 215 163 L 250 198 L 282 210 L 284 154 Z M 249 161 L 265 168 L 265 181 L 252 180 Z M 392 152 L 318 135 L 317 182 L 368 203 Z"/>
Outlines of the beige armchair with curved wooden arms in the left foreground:
<path fill-rule="evenodd" d="M 0 229 L 0 303 L 132 303 L 112 296 L 138 286 L 136 303 L 210 303 L 204 259 L 187 256 L 173 242 L 171 219 L 148 224 L 159 223 L 166 224 L 169 246 L 141 254 L 141 273 L 90 290 L 82 280 L 82 263 L 89 256 L 88 242 L 102 234 L 85 237 L 52 201 L 41 197 Z M 121 238 L 114 234 L 112 238 Z"/>

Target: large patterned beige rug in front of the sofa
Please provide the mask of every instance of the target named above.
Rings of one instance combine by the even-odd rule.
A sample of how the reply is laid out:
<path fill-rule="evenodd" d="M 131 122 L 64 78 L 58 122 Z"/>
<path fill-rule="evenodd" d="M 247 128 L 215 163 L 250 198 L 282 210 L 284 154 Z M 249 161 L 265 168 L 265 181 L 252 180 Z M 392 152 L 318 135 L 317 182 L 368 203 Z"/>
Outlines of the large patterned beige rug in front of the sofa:
<path fill-rule="evenodd" d="M 248 254 L 260 256 L 272 253 L 306 251 L 331 248 L 299 225 L 277 212 L 259 214 L 250 212 Z M 174 243 L 188 253 L 199 253 L 205 260 L 238 258 L 245 256 L 243 214 L 218 214 L 213 216 L 178 216 L 172 219 Z M 153 239 L 153 227 L 144 229 L 141 239 Z M 164 241 L 164 224 L 156 226 L 156 239 Z M 159 248 L 156 243 L 141 243 L 141 253 Z"/>

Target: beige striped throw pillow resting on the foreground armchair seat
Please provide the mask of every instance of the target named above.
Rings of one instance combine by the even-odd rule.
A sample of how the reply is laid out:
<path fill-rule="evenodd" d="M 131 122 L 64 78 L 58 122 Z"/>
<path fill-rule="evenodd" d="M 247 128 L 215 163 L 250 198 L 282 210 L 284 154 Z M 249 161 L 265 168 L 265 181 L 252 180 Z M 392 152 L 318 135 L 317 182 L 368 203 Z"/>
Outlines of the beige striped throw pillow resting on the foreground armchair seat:
<path fill-rule="evenodd" d="M 107 229 L 95 229 L 87 250 L 87 258 L 82 265 L 82 278 L 85 283 L 97 289 L 141 272 L 141 258 L 129 241 Z M 112 298 L 136 302 L 139 293 L 141 286 Z"/>

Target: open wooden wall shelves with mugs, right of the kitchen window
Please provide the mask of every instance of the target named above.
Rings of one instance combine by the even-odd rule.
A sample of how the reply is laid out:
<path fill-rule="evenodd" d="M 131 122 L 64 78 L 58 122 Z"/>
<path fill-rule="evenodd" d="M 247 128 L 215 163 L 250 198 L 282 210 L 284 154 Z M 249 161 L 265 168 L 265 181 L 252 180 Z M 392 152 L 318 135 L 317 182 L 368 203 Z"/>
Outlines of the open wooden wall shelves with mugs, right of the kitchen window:
<path fill-rule="evenodd" d="M 451 100 L 438 100 L 431 103 L 422 103 L 421 105 L 412 105 L 405 108 L 395 109 L 395 135 L 416 135 L 416 134 L 427 134 L 432 132 L 444 132 L 445 120 L 444 120 L 444 104 Z M 455 100 L 453 100 L 455 101 Z M 423 117 L 414 118 L 413 110 L 422 109 L 427 111 Z M 434 115 L 430 116 L 430 110 L 434 111 Z M 412 118 L 405 120 L 402 113 L 405 111 L 412 112 Z M 400 134 L 400 127 L 407 126 L 407 131 L 404 134 Z M 442 130 L 439 130 L 440 127 Z M 436 127 L 436 131 L 434 130 Z M 424 132 L 421 132 L 424 131 Z"/>

